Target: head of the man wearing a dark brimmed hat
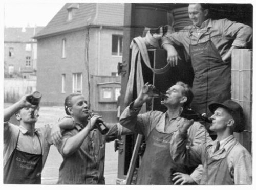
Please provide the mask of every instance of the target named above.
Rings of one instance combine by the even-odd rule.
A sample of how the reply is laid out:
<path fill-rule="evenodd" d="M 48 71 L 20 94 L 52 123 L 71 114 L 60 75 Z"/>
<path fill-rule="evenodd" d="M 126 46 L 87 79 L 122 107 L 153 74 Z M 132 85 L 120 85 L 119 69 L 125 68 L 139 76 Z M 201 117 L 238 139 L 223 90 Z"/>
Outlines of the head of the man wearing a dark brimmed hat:
<path fill-rule="evenodd" d="M 245 129 L 245 120 L 243 108 L 232 100 L 223 103 L 212 103 L 209 110 L 214 113 L 211 116 L 212 131 L 224 131 L 227 127 L 232 132 L 242 132 Z"/>

